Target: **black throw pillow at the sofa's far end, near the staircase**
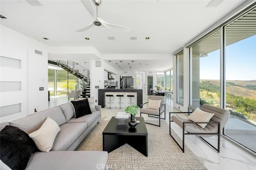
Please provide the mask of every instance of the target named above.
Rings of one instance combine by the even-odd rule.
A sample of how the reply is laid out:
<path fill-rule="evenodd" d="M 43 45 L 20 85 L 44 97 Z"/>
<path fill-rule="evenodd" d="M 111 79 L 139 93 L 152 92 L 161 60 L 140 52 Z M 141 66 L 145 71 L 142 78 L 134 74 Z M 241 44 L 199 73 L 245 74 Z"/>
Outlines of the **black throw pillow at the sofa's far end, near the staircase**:
<path fill-rule="evenodd" d="M 85 100 L 71 101 L 71 103 L 74 107 L 75 118 L 92 114 L 87 98 Z"/>

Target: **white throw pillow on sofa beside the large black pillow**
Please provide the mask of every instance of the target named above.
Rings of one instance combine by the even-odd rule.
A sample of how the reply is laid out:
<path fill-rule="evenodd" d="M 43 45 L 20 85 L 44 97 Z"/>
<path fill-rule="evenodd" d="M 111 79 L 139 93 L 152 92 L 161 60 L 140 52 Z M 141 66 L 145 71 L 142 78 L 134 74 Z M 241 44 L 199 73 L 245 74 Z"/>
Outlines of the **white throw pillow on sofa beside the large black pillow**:
<path fill-rule="evenodd" d="M 30 133 L 29 136 L 36 143 L 38 149 L 42 152 L 49 152 L 59 131 L 59 125 L 47 117 L 42 126 L 37 131 Z"/>

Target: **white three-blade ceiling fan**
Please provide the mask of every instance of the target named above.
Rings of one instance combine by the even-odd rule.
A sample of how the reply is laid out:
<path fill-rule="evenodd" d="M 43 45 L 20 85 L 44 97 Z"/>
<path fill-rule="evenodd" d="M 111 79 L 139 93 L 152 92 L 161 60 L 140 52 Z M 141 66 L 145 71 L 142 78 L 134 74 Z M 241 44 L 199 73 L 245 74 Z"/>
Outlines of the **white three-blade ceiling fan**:
<path fill-rule="evenodd" d="M 88 12 L 91 14 L 93 21 L 89 25 L 82 27 L 80 29 L 77 29 L 75 31 L 77 31 L 77 32 L 86 31 L 94 25 L 107 27 L 110 29 L 114 29 L 116 31 L 122 31 L 122 32 L 130 31 L 130 28 L 128 28 L 128 27 L 107 23 L 106 21 L 104 21 L 100 17 L 98 17 L 98 6 L 101 4 L 101 0 L 93 0 L 94 4 L 96 5 L 96 12 L 94 11 L 91 0 L 81 0 L 81 2 L 84 5 L 84 7 L 86 8 L 86 10 L 88 10 Z"/>

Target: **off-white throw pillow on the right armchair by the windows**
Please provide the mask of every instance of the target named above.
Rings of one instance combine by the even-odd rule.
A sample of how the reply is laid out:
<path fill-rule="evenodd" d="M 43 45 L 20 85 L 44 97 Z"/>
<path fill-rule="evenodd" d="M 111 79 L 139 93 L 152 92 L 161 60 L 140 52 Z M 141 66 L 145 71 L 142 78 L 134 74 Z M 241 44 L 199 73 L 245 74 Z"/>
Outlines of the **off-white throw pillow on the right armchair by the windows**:
<path fill-rule="evenodd" d="M 188 116 L 188 119 L 194 122 L 209 122 L 213 117 L 214 113 L 208 113 L 206 111 L 202 111 L 198 107 Z M 206 127 L 207 123 L 197 123 L 203 129 Z"/>

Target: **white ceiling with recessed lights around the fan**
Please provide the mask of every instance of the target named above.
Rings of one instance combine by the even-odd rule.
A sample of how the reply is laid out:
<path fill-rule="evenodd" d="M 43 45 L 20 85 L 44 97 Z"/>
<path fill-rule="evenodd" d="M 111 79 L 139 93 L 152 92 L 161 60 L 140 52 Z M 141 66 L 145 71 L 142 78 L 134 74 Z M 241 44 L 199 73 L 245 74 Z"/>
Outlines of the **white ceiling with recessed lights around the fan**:
<path fill-rule="evenodd" d="M 130 54 L 131 60 L 138 60 L 134 64 L 142 62 L 134 57 L 136 55 L 155 54 L 158 57 L 148 61 L 154 63 L 154 67 L 134 66 L 132 69 L 164 70 L 172 68 L 172 58 L 168 61 L 166 55 L 171 56 L 244 1 L 223 0 L 217 7 L 209 8 L 206 6 L 210 0 L 102 0 L 98 16 L 109 23 L 130 27 L 131 31 L 94 26 L 84 32 L 75 32 L 92 21 L 80 0 L 38 0 L 42 6 L 32 6 L 26 0 L 0 0 L 0 14 L 7 18 L 0 19 L 0 23 L 52 47 L 93 46 L 102 55 Z M 108 37 L 115 37 L 115 40 L 108 40 Z M 137 37 L 137 40 L 130 40 L 130 37 Z M 130 60 L 120 55 L 116 61 L 121 59 Z M 115 61 L 111 65 L 119 70 L 113 63 Z"/>

